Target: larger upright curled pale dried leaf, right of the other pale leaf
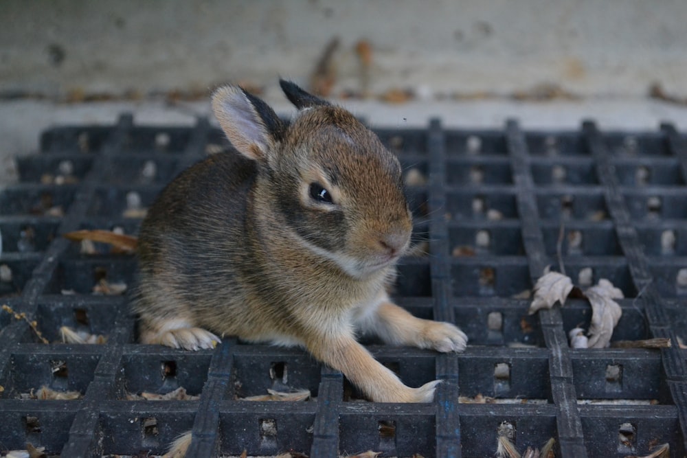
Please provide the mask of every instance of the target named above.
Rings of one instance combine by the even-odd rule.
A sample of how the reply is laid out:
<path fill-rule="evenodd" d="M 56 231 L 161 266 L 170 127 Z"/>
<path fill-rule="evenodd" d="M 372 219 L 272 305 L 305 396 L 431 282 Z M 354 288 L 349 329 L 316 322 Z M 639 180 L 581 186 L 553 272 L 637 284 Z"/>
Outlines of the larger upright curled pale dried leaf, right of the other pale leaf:
<path fill-rule="evenodd" d="M 622 291 L 607 279 L 600 279 L 596 286 L 585 291 L 592 304 L 592 324 L 589 326 L 589 348 L 608 347 L 613 328 L 618 324 L 622 309 L 613 299 L 622 299 Z"/>

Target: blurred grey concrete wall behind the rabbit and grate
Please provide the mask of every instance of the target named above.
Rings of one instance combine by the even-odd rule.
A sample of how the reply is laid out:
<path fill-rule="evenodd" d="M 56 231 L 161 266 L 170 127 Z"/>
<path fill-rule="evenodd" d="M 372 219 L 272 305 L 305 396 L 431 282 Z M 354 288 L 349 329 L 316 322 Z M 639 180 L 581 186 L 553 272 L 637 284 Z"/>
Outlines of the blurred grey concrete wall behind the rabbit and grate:
<path fill-rule="evenodd" d="M 307 82 L 334 37 L 333 94 L 687 95 L 687 1 L 0 1 L 0 93 L 80 98 Z"/>

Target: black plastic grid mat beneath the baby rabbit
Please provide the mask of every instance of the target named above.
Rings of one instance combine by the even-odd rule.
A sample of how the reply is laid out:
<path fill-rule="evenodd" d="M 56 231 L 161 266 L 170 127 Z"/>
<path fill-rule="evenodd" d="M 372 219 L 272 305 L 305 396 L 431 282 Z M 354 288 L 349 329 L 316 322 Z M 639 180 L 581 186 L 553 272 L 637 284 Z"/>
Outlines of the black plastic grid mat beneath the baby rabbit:
<path fill-rule="evenodd" d="M 95 254 L 60 237 L 121 227 L 173 176 L 229 145 L 196 126 L 48 130 L 41 154 L 19 159 L 21 183 L 0 192 L 0 447 L 45 446 L 65 457 L 162 454 L 193 431 L 188 456 L 493 456 L 502 422 L 523 452 L 556 439 L 558 457 L 646 455 L 687 437 L 687 137 L 581 130 L 376 131 L 407 172 L 414 240 L 427 255 L 399 266 L 395 297 L 418 317 L 468 334 L 464 354 L 370 343 L 407 385 L 444 380 L 431 404 L 355 399 L 341 374 L 296 349 L 233 340 L 183 352 L 135 343 L 126 296 L 93 295 L 99 279 L 131 285 L 135 257 Z M 561 238 L 561 226 L 563 238 Z M 559 250 L 561 260 L 559 260 Z M 573 350 L 567 332 L 588 328 L 586 301 L 527 314 L 547 266 L 574 282 L 610 279 L 626 299 L 612 341 L 667 337 L 662 350 Z M 8 271 L 11 279 L 7 277 Z M 584 275 L 583 275 L 584 274 Z M 53 342 L 41 343 L 28 323 Z M 102 345 L 54 343 L 59 329 L 103 334 Z M 78 400 L 25 400 L 46 385 Z M 307 402 L 238 400 L 273 387 L 309 389 Z M 178 387 L 198 400 L 127 400 Z M 459 402 L 479 396 L 499 402 Z M 2 451 L 2 450 L 0 450 Z"/>

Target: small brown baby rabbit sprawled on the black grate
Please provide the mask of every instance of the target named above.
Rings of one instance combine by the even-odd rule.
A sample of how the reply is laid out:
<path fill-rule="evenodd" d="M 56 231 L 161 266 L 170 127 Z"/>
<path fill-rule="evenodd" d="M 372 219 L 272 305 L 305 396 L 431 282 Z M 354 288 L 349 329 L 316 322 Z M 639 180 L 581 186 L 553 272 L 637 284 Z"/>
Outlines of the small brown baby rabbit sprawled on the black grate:
<path fill-rule="evenodd" d="M 289 124 L 226 86 L 212 108 L 236 151 L 174 179 L 139 233 L 135 311 L 143 343 L 212 348 L 217 335 L 299 345 L 377 402 L 429 402 L 438 381 L 407 387 L 357 343 L 460 352 L 454 325 L 389 299 L 409 246 L 401 165 L 348 111 L 280 81 Z"/>

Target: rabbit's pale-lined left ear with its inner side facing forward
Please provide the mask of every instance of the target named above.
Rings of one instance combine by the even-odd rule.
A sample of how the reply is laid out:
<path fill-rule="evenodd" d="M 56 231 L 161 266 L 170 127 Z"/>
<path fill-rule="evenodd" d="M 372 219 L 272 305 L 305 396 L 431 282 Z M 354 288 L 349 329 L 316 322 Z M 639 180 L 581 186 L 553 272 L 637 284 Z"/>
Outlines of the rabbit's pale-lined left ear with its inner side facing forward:
<path fill-rule="evenodd" d="M 222 130 L 241 154 L 258 162 L 284 137 L 285 126 L 272 108 L 238 86 L 212 94 L 212 110 Z"/>

